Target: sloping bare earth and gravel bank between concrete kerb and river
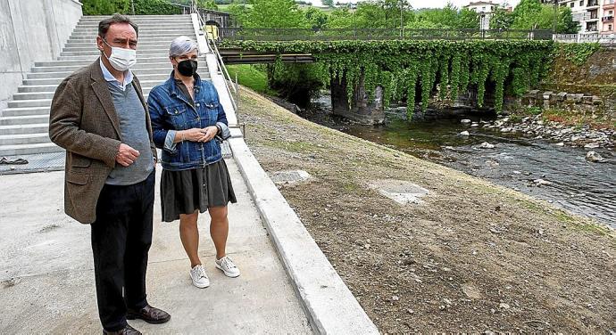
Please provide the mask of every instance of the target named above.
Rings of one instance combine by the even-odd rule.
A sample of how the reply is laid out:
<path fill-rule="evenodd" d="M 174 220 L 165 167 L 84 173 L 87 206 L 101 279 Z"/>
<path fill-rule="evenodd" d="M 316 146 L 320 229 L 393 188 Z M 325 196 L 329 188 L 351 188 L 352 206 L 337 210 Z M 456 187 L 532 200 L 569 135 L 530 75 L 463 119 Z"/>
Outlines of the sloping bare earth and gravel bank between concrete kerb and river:
<path fill-rule="evenodd" d="M 616 331 L 616 233 L 520 192 L 320 127 L 242 89 L 240 122 L 382 333 Z M 399 205 L 370 187 L 429 190 Z"/>

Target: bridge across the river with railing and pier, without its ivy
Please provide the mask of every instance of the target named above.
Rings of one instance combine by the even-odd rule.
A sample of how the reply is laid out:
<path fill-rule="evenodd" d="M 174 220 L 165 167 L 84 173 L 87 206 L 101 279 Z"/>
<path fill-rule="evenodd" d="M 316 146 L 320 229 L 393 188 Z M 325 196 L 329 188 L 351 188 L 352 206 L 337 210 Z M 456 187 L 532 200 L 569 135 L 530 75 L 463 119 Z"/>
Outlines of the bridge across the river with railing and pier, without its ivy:
<path fill-rule="evenodd" d="M 486 43 L 487 49 L 497 49 L 501 41 L 534 45 L 537 41 L 549 42 L 553 37 L 549 30 L 226 28 L 219 31 L 221 39 L 218 45 L 227 64 L 327 63 L 332 54 L 362 54 L 362 57 L 370 58 L 379 54 L 370 54 L 369 51 L 388 50 L 388 53 L 392 48 L 403 53 L 437 52 L 413 46 L 418 41 L 445 41 L 443 48 L 451 45 L 463 47 L 481 41 Z M 357 57 L 358 64 L 362 63 L 362 57 Z M 385 68 L 386 64 L 381 65 L 381 69 L 390 70 Z M 333 112 L 356 123 L 382 123 L 385 119 L 383 87 L 369 92 L 365 86 L 366 71 L 362 68 L 359 72 L 351 79 L 346 73 L 332 73 L 329 87 Z M 351 91 L 353 94 L 349 94 Z M 487 95 L 490 94 L 494 94 L 493 90 Z M 476 92 L 470 95 L 477 97 Z"/>

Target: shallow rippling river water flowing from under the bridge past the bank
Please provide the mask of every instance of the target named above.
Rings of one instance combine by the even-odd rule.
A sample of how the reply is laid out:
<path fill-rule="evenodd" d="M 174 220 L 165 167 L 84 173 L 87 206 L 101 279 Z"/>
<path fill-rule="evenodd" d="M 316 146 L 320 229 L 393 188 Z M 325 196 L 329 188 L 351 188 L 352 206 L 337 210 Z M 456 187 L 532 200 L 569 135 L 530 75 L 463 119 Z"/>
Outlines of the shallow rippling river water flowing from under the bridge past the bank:
<path fill-rule="evenodd" d="M 614 151 L 595 149 L 607 161 L 591 163 L 585 158 L 587 150 L 581 148 L 559 147 L 515 135 L 505 137 L 492 129 L 462 125 L 462 118 L 470 118 L 479 126 L 482 121 L 495 118 L 477 113 L 438 112 L 437 118 L 414 118 L 409 122 L 401 113 L 388 111 L 384 126 L 370 127 L 349 124 L 344 118 L 331 115 L 330 109 L 329 96 L 324 96 L 299 115 L 547 200 L 616 228 Z M 465 130 L 470 136 L 459 135 Z M 495 147 L 480 149 L 484 142 Z"/>

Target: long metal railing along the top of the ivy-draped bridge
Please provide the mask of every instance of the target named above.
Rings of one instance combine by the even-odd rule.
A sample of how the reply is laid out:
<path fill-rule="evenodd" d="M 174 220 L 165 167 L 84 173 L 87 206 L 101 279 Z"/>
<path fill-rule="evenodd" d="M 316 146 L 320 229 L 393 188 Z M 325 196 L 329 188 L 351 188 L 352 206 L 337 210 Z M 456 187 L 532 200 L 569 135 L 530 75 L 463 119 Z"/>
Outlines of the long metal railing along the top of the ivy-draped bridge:
<path fill-rule="evenodd" d="M 551 40 L 551 30 L 499 29 L 246 29 L 221 28 L 223 40 L 335 41 L 335 40 Z"/>

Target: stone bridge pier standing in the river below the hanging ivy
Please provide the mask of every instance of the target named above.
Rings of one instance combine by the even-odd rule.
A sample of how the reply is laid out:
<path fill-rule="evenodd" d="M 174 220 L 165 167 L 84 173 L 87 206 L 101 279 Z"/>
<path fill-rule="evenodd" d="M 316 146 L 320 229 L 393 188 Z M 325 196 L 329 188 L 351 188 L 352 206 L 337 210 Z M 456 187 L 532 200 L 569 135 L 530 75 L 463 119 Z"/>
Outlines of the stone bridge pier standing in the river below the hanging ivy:
<path fill-rule="evenodd" d="M 334 115 L 350 119 L 354 123 L 362 125 L 379 125 L 385 122 L 385 110 L 383 109 L 383 88 L 378 86 L 374 90 L 374 100 L 370 102 L 370 95 L 366 92 L 365 73 L 362 69 L 360 78 L 355 83 L 353 98 L 349 105 L 347 86 L 353 85 L 346 80 L 346 73 L 330 76 L 331 107 Z"/>

